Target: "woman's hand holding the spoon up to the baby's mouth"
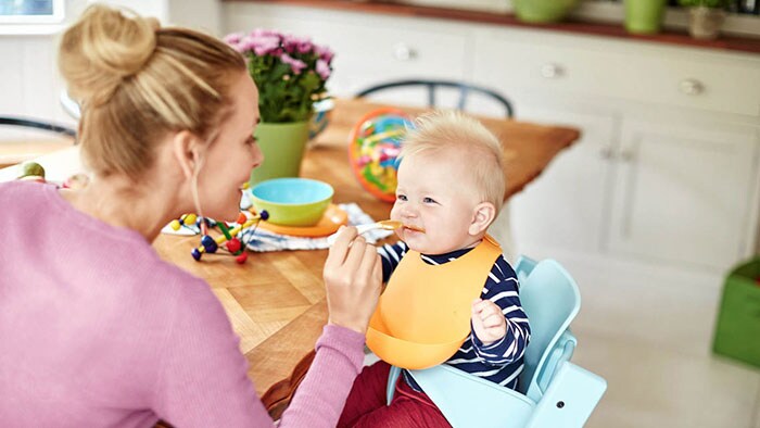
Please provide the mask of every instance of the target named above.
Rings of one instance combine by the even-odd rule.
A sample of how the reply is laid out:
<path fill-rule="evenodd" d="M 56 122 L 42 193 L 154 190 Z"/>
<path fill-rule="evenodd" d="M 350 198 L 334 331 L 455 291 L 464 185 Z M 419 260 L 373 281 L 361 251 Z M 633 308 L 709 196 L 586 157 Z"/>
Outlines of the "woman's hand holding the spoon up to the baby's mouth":
<path fill-rule="evenodd" d="M 373 246 L 357 237 L 355 227 L 339 231 L 322 272 L 329 324 L 367 332 L 380 297 L 382 264 Z"/>

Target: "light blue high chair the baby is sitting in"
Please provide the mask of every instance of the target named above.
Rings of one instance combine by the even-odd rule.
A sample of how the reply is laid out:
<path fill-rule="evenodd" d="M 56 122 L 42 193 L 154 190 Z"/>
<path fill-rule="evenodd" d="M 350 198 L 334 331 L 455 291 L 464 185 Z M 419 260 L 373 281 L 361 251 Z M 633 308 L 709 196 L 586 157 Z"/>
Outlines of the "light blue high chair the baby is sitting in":
<path fill-rule="evenodd" d="M 554 260 L 521 256 L 515 272 L 531 324 L 517 391 L 446 364 L 409 373 L 454 428 L 582 427 L 607 381 L 570 362 L 577 340 L 569 327 L 581 307 L 578 285 Z M 389 404 L 400 374 L 391 368 Z"/>

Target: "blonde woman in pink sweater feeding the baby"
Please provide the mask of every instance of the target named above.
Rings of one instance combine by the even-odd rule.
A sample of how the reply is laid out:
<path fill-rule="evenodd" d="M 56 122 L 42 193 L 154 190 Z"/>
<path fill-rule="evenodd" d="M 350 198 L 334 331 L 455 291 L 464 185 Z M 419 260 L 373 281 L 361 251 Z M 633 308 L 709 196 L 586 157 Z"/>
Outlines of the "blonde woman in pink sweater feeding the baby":
<path fill-rule="evenodd" d="M 93 179 L 0 186 L 12 249 L 0 252 L 0 426 L 271 426 L 208 285 L 150 244 L 186 212 L 237 218 L 262 162 L 243 59 L 94 5 L 63 35 L 59 65 Z M 280 427 L 338 421 L 380 276 L 375 248 L 344 229 L 325 264 L 329 323 Z"/>

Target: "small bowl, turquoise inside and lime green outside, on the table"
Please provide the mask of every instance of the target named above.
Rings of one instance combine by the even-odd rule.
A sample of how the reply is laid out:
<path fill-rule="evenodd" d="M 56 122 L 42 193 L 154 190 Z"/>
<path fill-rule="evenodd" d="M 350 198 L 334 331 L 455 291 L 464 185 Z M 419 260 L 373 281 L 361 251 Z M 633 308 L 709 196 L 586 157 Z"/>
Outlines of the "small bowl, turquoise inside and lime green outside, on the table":
<path fill-rule="evenodd" d="M 334 190 L 327 182 L 308 178 L 275 178 L 251 190 L 256 211 L 266 210 L 267 222 L 282 226 L 314 226 L 325 215 Z"/>

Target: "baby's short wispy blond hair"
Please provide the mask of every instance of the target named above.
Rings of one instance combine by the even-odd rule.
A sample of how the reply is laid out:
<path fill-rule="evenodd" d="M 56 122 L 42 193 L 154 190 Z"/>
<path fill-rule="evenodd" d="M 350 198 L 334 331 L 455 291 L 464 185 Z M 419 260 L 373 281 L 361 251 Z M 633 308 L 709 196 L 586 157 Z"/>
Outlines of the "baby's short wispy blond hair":
<path fill-rule="evenodd" d="M 402 162 L 405 156 L 442 151 L 461 154 L 463 162 L 470 166 L 481 201 L 491 202 L 498 214 L 506 186 L 498 139 L 480 122 L 458 112 L 436 111 L 417 117 L 402 143 Z"/>

